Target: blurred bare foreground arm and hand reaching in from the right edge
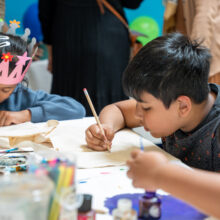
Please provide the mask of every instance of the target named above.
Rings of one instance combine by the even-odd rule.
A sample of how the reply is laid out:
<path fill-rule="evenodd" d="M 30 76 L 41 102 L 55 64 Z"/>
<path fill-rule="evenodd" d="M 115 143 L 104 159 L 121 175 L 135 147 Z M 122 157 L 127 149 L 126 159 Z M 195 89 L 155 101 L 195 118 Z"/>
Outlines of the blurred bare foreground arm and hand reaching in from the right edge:
<path fill-rule="evenodd" d="M 158 152 L 132 152 L 128 177 L 135 187 L 161 188 L 201 211 L 220 218 L 220 174 L 187 169 L 167 161 Z"/>

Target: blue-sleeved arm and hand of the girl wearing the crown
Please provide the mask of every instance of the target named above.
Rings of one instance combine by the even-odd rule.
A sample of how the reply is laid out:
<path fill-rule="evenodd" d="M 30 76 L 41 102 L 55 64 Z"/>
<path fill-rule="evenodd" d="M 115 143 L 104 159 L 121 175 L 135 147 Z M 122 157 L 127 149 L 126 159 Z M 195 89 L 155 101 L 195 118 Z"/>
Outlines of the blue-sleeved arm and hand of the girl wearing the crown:
<path fill-rule="evenodd" d="M 32 91 L 18 85 L 0 111 L 0 126 L 27 121 L 68 120 L 85 116 L 84 107 L 70 97 Z"/>

